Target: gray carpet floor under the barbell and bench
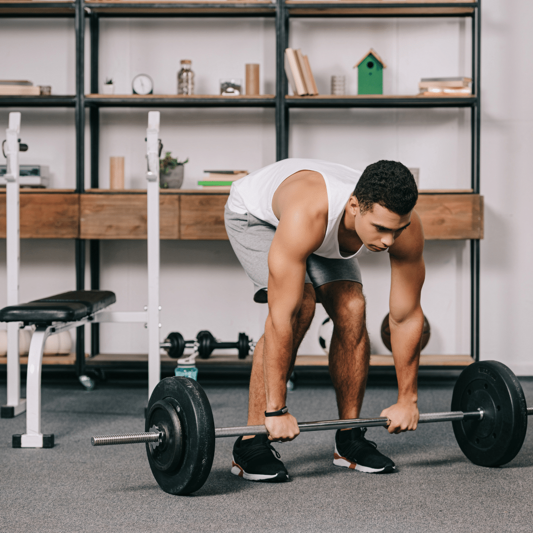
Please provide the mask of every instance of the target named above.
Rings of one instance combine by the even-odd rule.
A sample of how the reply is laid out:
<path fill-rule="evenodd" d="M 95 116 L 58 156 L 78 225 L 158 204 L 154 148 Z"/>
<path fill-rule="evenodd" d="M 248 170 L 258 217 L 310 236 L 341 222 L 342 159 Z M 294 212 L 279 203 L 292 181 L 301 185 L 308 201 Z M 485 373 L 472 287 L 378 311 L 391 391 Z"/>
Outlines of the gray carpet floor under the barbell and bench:
<path fill-rule="evenodd" d="M 533 403 L 533 381 L 522 382 Z M 246 423 L 247 388 L 205 387 L 215 425 Z M 421 383 L 421 412 L 449 410 L 453 384 Z M 369 385 L 361 416 L 395 401 L 390 385 Z M 5 385 L 0 386 L 5 398 Z M 334 432 L 303 433 L 277 444 L 290 481 L 256 483 L 230 473 L 233 438 L 217 439 L 204 487 L 187 497 L 163 492 L 143 445 L 93 448 L 93 434 L 143 431 L 144 388 L 45 385 L 42 427 L 53 449 L 12 449 L 25 415 L 0 420 L 0 531 L 532 531 L 533 431 L 519 455 L 497 469 L 470 463 L 451 423 L 367 437 L 394 459 L 397 472 L 364 474 L 333 465 Z M 300 421 L 336 418 L 328 386 L 302 386 L 287 405 Z"/>

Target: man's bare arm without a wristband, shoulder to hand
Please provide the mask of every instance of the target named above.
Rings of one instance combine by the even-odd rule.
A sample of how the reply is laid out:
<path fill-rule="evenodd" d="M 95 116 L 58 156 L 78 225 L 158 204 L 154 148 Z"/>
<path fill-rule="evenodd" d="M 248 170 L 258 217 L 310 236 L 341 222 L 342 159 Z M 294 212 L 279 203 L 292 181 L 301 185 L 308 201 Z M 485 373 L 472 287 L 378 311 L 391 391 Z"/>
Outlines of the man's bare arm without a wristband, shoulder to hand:
<path fill-rule="evenodd" d="M 389 325 L 398 378 L 398 402 L 385 409 L 383 416 L 391 419 L 391 433 L 415 430 L 418 423 L 417 376 L 424 325 L 424 314 L 420 305 L 425 278 L 423 248 L 422 222 L 414 211 L 411 215 L 411 225 L 390 249 Z"/>

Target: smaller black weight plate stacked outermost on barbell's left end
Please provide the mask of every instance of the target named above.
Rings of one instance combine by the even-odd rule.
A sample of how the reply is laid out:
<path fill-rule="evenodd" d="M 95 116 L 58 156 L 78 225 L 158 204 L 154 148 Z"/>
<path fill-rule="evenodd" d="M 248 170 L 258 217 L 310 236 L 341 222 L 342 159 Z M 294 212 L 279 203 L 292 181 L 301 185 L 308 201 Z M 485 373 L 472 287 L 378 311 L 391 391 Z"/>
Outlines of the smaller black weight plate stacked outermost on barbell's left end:
<path fill-rule="evenodd" d="M 172 472 L 180 464 L 183 435 L 177 416 L 177 402 L 173 398 L 159 400 L 152 405 L 146 418 L 148 431 L 163 431 L 161 442 L 150 442 L 148 449 L 154 466 L 162 472 Z"/>

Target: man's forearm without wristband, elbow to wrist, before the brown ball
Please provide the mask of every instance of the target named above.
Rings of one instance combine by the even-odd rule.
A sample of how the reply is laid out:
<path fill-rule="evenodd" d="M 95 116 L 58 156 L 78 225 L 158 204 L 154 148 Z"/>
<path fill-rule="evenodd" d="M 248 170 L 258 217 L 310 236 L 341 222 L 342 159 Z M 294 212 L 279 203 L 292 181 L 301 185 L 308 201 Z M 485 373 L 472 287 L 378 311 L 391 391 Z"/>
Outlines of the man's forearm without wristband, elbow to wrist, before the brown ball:
<path fill-rule="evenodd" d="M 424 314 L 415 311 L 401 322 L 390 320 L 391 346 L 398 379 L 398 402 L 417 402 L 418 362 Z"/>

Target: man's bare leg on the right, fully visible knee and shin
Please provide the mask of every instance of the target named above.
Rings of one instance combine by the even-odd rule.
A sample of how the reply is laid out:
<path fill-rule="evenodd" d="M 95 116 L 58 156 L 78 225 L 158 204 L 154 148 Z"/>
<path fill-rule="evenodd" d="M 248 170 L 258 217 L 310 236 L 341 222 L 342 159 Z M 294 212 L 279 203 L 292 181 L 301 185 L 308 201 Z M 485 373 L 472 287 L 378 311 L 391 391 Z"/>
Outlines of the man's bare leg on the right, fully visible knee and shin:
<path fill-rule="evenodd" d="M 317 288 L 320 301 L 333 321 L 329 346 L 329 374 L 337 396 L 340 418 L 357 418 L 370 361 L 365 296 L 357 281 L 332 281 Z"/>

